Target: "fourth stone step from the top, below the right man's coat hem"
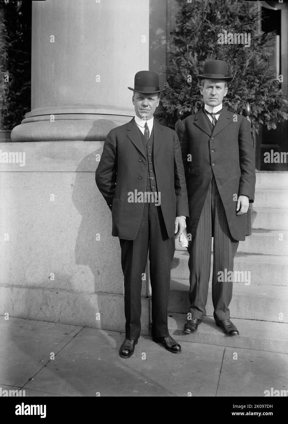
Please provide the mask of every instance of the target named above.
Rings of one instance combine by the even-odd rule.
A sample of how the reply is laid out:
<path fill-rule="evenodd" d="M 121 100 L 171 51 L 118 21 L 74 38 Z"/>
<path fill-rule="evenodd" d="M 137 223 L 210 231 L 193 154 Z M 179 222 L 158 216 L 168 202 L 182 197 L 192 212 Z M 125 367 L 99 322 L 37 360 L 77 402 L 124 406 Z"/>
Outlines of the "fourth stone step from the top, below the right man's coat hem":
<path fill-rule="evenodd" d="M 245 241 L 239 242 L 238 251 L 262 255 L 288 255 L 288 231 L 253 230 Z"/>

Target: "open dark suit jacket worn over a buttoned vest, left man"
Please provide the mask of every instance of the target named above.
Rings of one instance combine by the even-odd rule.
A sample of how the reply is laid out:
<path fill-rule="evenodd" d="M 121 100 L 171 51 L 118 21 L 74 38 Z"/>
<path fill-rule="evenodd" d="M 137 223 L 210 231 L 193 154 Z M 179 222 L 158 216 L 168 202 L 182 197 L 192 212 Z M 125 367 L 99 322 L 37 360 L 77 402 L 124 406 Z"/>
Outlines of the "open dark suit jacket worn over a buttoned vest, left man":
<path fill-rule="evenodd" d="M 154 120 L 154 169 L 168 237 L 176 216 L 188 216 L 187 190 L 179 139 L 175 131 Z M 147 159 L 134 118 L 112 129 L 96 170 L 96 184 L 112 210 L 112 235 L 136 238 L 144 203 L 128 203 L 128 192 L 145 192 Z M 159 206 L 155 206 L 159 207 Z"/>

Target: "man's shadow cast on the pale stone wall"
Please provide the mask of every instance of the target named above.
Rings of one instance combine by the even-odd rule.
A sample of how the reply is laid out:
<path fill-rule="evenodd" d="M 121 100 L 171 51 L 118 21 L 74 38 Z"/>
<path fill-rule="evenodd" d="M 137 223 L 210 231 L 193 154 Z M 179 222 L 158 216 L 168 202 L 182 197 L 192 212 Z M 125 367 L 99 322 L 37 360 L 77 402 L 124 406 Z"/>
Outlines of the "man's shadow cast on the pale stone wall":
<path fill-rule="evenodd" d="M 99 122 L 95 124 L 98 126 Z M 123 323 L 124 329 L 124 300 L 122 296 L 115 296 L 123 295 L 119 239 L 111 235 L 111 211 L 95 183 L 98 163 L 95 158 L 101 153 L 102 145 L 82 159 L 75 174 L 72 201 L 82 217 L 75 244 L 75 263 L 88 265 L 94 276 L 93 293 L 97 296 L 90 293 L 91 310 L 84 311 L 89 315 L 89 322 L 94 320 L 93 327 L 96 328 L 116 329 L 115 322 L 118 321 Z M 84 172 L 84 169 L 91 171 Z M 99 322 L 95 321 L 97 313 L 100 313 Z"/>

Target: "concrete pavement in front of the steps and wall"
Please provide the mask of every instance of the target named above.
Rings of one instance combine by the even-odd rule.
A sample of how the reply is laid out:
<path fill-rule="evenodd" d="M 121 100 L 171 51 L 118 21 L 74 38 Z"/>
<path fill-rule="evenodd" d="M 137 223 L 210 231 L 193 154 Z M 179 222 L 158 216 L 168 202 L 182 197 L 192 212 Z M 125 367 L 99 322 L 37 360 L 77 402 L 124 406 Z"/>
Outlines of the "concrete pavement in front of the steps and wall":
<path fill-rule="evenodd" d="M 187 397 L 288 390 L 288 354 L 191 341 L 172 354 L 141 336 L 133 356 L 122 359 L 123 339 L 119 332 L 0 316 L 2 393 Z"/>

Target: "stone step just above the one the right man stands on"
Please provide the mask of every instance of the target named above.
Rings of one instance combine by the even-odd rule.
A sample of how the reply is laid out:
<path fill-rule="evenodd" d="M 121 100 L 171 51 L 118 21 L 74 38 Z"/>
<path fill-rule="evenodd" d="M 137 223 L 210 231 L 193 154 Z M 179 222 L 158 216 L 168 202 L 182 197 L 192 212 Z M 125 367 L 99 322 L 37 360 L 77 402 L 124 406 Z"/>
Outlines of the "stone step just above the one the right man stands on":
<path fill-rule="evenodd" d="M 188 279 L 172 279 L 168 310 L 187 314 L 190 306 L 188 293 Z M 229 309 L 231 318 L 288 322 L 288 287 L 234 282 Z M 209 283 L 206 314 L 213 316 L 213 310 L 212 287 Z"/>

